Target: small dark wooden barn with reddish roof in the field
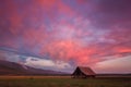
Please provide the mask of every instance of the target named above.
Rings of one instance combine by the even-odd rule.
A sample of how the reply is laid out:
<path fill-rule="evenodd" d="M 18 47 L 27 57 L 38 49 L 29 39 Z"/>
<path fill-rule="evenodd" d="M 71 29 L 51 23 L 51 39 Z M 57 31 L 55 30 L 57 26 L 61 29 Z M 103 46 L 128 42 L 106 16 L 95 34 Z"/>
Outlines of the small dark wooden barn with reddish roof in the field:
<path fill-rule="evenodd" d="M 91 67 L 78 66 L 73 72 L 72 76 L 74 78 L 87 78 L 95 77 L 95 72 Z"/>

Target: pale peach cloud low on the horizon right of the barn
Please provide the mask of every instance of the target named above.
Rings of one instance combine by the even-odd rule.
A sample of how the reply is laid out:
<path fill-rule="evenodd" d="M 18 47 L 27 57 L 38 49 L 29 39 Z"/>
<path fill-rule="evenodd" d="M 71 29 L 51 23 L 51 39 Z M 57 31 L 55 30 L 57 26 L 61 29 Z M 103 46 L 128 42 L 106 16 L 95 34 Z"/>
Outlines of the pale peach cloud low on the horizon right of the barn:
<path fill-rule="evenodd" d="M 115 58 L 115 57 L 111 57 Z M 109 61 L 98 62 L 94 69 L 97 73 L 130 73 L 131 66 L 131 55 L 124 57 L 122 59 L 112 59 Z M 124 64 L 123 64 L 124 63 Z"/>

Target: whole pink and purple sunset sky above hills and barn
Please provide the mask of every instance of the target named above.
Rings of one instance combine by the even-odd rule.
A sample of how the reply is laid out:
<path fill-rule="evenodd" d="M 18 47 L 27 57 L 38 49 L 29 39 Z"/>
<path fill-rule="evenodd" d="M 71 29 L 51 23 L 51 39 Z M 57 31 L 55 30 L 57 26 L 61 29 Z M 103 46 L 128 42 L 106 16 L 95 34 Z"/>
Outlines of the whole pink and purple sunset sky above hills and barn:
<path fill-rule="evenodd" d="M 0 0 L 0 60 L 131 73 L 131 0 Z"/>

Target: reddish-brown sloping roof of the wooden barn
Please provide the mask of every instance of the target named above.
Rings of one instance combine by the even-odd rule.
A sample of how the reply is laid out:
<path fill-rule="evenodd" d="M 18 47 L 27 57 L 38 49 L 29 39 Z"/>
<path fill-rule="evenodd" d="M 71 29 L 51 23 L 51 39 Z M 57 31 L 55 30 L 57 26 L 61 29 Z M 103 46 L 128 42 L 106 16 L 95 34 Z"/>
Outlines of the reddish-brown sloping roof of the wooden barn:
<path fill-rule="evenodd" d="M 84 73 L 85 75 L 95 75 L 95 72 L 91 67 L 78 66 L 76 69 L 80 69 L 80 71 Z"/>

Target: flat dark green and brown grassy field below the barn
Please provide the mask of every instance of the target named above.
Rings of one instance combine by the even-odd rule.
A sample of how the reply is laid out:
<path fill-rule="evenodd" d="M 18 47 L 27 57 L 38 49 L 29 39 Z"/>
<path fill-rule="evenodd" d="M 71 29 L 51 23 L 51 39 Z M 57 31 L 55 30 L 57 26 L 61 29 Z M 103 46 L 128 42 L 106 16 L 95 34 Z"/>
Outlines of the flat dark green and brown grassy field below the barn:
<path fill-rule="evenodd" d="M 0 76 L 0 87 L 131 87 L 131 77 Z"/>

